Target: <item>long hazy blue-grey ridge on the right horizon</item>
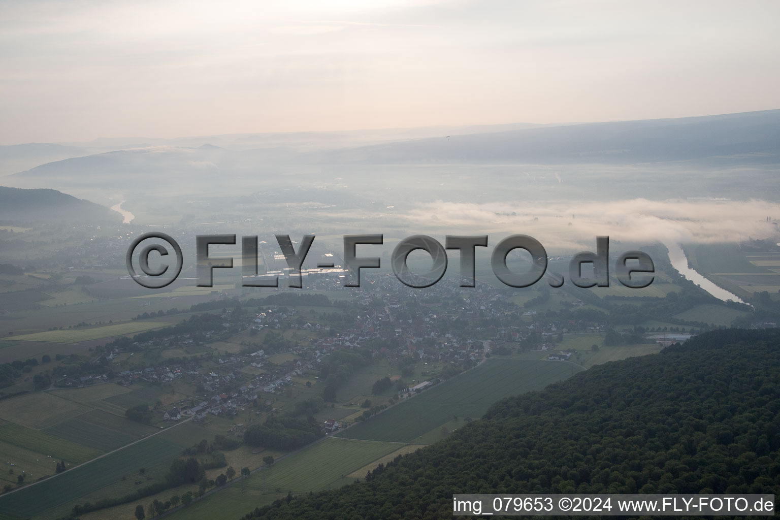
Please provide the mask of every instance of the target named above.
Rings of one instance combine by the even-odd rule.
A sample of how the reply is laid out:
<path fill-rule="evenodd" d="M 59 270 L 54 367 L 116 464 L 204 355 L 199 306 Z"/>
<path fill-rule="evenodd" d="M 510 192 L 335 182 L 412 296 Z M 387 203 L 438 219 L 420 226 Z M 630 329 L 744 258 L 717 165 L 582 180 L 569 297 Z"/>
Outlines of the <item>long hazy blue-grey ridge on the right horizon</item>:
<path fill-rule="evenodd" d="M 707 159 L 776 164 L 780 110 L 597 122 L 432 137 L 326 154 L 327 161 L 421 164 L 633 164 Z"/>

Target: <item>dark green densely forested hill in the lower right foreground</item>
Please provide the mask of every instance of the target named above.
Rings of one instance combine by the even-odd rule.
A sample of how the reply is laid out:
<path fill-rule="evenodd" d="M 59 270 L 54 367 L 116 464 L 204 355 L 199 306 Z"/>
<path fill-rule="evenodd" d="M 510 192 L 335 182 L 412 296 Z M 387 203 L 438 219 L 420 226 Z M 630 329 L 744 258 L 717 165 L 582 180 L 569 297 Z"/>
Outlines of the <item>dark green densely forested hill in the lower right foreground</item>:
<path fill-rule="evenodd" d="M 780 495 L 778 369 L 778 331 L 702 334 L 499 401 L 365 482 L 246 518 L 452 518 L 453 493 Z"/>

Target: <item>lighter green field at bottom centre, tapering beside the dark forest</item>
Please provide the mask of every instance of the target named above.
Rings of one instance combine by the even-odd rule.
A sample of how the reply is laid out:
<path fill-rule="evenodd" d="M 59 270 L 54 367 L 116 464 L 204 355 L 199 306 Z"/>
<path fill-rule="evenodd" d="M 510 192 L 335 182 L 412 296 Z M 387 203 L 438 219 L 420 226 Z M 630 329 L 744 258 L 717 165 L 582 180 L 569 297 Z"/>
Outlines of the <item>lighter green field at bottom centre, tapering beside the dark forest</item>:
<path fill-rule="evenodd" d="M 268 504 L 288 491 L 308 493 L 338 485 L 357 469 L 392 453 L 401 444 L 346 440 L 331 437 L 276 462 L 271 468 L 253 473 L 245 482 L 234 483 L 176 511 L 172 520 L 211 520 L 240 518 L 261 504 Z M 353 482 L 353 479 L 349 479 Z M 243 491 L 245 490 L 245 492 Z"/>

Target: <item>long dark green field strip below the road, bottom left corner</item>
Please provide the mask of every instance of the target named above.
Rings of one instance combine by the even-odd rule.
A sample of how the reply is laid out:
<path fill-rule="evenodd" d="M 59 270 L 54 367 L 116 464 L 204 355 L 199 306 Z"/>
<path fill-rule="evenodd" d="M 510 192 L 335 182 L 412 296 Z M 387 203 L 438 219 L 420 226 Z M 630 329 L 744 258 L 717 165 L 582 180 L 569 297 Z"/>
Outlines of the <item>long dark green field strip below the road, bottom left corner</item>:
<path fill-rule="evenodd" d="M 181 451 L 178 444 L 151 437 L 16 493 L 0 496 L 0 513 L 19 517 L 39 515 L 137 472 L 140 467 L 171 460 Z"/>

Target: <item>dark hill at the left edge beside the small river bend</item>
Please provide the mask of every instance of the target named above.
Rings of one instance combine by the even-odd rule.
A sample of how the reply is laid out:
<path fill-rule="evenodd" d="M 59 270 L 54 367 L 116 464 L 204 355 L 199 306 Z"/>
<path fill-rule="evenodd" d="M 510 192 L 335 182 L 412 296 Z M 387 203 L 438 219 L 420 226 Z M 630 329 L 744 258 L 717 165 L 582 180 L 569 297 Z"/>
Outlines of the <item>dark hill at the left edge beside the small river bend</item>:
<path fill-rule="evenodd" d="M 89 200 L 55 189 L 20 189 L 0 186 L 0 221 L 34 223 L 62 221 L 72 224 L 119 224 L 122 216 Z"/>

